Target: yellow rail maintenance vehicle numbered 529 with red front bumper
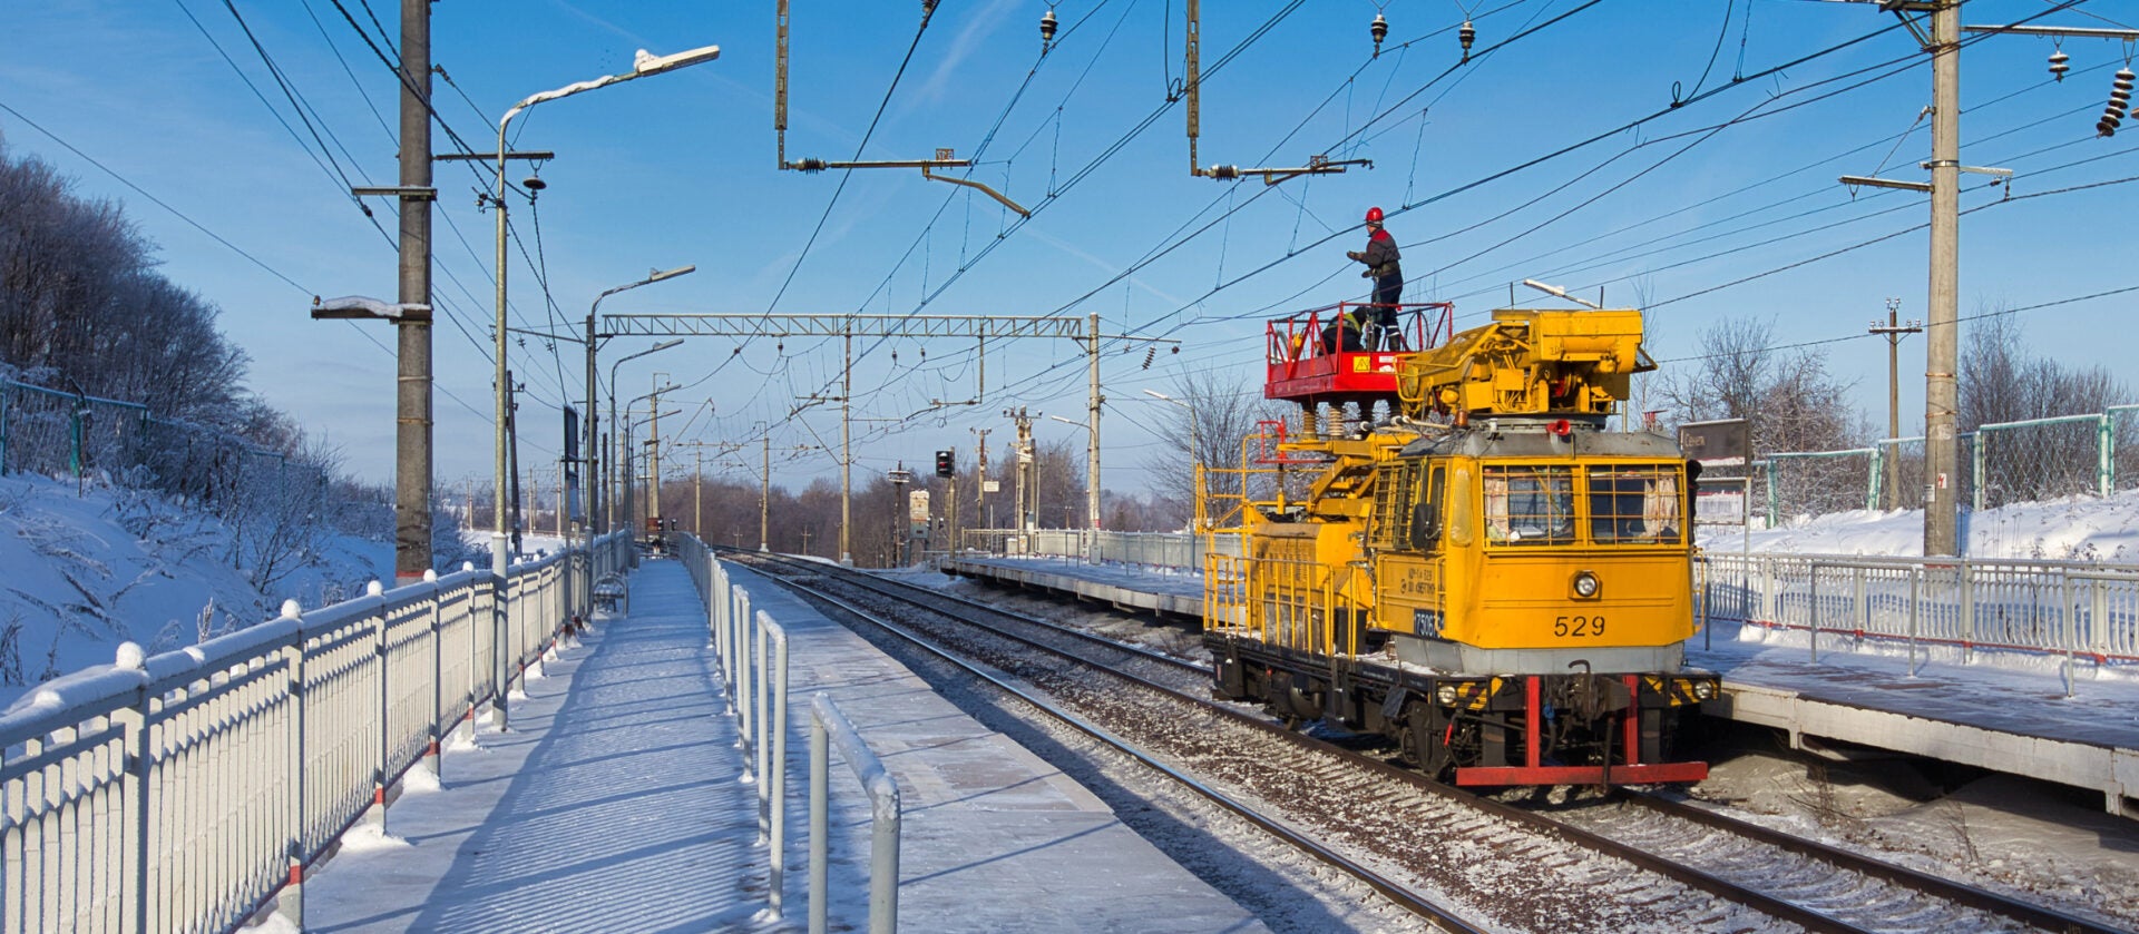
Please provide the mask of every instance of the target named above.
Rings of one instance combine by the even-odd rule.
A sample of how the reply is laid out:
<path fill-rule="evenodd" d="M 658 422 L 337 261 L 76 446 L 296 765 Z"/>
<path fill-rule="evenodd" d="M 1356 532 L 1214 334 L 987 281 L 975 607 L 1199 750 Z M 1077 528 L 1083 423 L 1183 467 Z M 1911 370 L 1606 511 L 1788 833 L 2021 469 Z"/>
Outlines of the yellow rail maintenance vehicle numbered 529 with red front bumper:
<path fill-rule="evenodd" d="M 1303 406 L 1301 434 L 1266 457 L 1266 496 L 1243 479 L 1238 547 L 1209 549 L 1221 697 L 1390 735 L 1459 784 L 1707 774 L 1664 761 L 1679 707 L 1718 688 L 1683 669 L 1688 464 L 1664 436 L 1604 430 L 1649 368 L 1641 312 L 1502 310 L 1395 355 L 1271 346 L 1266 393 Z M 1356 430 L 1322 417 L 1343 404 Z M 1311 474 L 1296 498 L 1286 472 Z"/>

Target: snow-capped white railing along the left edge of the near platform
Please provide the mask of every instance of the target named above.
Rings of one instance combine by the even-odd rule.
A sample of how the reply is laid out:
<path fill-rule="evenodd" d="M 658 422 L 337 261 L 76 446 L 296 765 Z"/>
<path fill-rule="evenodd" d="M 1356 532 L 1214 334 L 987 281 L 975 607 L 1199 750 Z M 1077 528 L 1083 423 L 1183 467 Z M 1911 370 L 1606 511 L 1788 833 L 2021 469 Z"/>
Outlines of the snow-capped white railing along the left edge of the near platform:
<path fill-rule="evenodd" d="M 0 716 L 0 930 L 231 930 L 554 643 L 629 534 L 464 569 L 34 688 Z M 498 626 L 498 598 L 505 626 Z M 503 645 L 503 652 L 498 648 Z"/>

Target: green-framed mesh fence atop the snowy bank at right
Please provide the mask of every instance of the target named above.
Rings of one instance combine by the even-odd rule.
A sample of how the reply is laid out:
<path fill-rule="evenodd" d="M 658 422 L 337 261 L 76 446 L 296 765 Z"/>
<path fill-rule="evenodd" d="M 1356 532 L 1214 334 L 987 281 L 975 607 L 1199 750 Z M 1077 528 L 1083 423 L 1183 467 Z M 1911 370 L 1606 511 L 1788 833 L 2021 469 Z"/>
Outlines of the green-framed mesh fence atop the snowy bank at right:
<path fill-rule="evenodd" d="M 1955 468 L 1959 477 L 1949 479 L 1951 489 L 1964 507 L 1979 511 L 2139 489 L 2139 406 L 1961 432 Z M 1728 468 L 1715 474 L 1724 472 Z M 1923 438 L 1878 440 L 1848 451 L 1769 453 L 1756 462 L 1754 483 L 1765 487 L 1769 526 L 1792 515 L 1923 509 Z"/>

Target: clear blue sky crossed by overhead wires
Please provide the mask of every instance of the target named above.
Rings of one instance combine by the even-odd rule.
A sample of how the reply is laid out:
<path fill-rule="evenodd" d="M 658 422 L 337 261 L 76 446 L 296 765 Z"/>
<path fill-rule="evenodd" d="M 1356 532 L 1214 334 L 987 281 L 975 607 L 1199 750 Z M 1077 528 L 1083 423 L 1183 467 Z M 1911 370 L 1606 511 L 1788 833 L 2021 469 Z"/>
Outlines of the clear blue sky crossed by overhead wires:
<path fill-rule="evenodd" d="M 314 323 L 306 306 L 394 295 L 391 205 L 372 203 L 374 227 L 347 194 L 347 184 L 396 180 L 394 77 L 334 0 L 231 2 L 312 128 L 220 0 L 58 0 L 0 9 L 15 38 L 0 56 L 0 105 L 15 111 L 0 111 L 0 135 L 11 154 L 77 177 L 79 192 L 124 201 L 160 244 L 165 274 L 222 308 L 222 327 L 252 355 L 252 389 L 385 483 L 391 329 Z M 394 0 L 340 2 L 366 26 L 374 11 L 398 38 Z M 1343 252 L 1365 242 L 1365 207 L 1382 205 L 1405 250 L 1405 297 L 1457 301 L 1459 327 L 1508 303 L 1523 278 L 1651 308 L 1651 353 L 1666 365 L 1696 353 L 1705 327 L 1750 316 L 1782 344 L 1822 342 L 1812 351 L 1857 380 L 1857 404 L 1884 423 L 1884 342 L 1865 325 L 1884 318 L 1887 297 L 1906 318 L 1925 316 L 1927 239 L 1902 231 L 1923 224 L 1927 205 L 1912 192 L 1852 194 L 1835 177 L 1925 177 L 1929 62 L 1872 4 L 1206 2 L 1204 165 L 1373 160 L 1281 186 L 1189 177 L 1183 105 L 1166 100 L 1181 79 L 1179 2 L 1052 4 L 1063 26 L 1042 58 L 1048 6 L 943 0 L 918 43 L 918 2 L 798 0 L 791 15 L 789 158 L 856 158 L 881 107 L 860 158 L 978 156 L 973 180 L 1035 209 L 1020 222 L 911 169 L 856 171 L 836 201 L 841 173 L 776 171 L 770 2 L 434 4 L 434 60 L 453 81 L 434 81 L 436 109 L 473 147 L 494 145 L 515 100 L 629 71 L 635 49 L 723 47 L 719 62 L 513 122 L 515 147 L 556 152 L 535 209 L 518 201 L 511 216 L 513 327 L 575 333 L 603 289 L 687 263 L 697 274 L 612 297 L 603 312 L 1097 312 L 1106 333 L 1181 340 L 1149 368 L 1149 344 L 1104 346 L 1104 483 L 1132 489 L 1159 447 L 1153 425 L 1168 419 L 1142 389 L 1172 393 L 1185 372 L 1253 387 L 1260 321 L 1363 295 Z M 1367 24 L 1378 11 L 1390 38 L 1375 58 Z M 1457 64 L 1465 15 L 1478 43 Z M 1968 24 L 2023 17 L 2139 21 L 2105 2 L 1964 9 Z M 2066 41 L 2062 83 L 2045 71 L 2051 49 L 2049 38 L 1996 36 L 1964 51 L 1961 160 L 2017 173 L 2006 203 L 1968 177 L 1961 205 L 1981 209 L 1961 222 L 1964 318 L 2139 286 L 2135 188 L 2060 192 L 2139 175 L 2139 128 L 2094 137 L 2128 49 Z M 1675 94 L 1692 100 L 1673 109 Z M 434 130 L 434 147 L 453 141 Z M 436 477 L 488 483 L 492 216 L 475 209 L 475 192 L 490 182 L 438 165 L 436 184 Z M 2126 372 L 2139 342 L 2118 323 L 2135 295 L 2019 314 L 2034 351 Z M 1514 299 L 1553 303 L 1529 291 Z M 612 340 L 601 372 L 648 344 Z M 1072 342 L 990 344 L 984 402 L 967 408 L 930 402 L 982 391 L 971 342 L 856 348 L 866 351 L 856 417 L 871 419 L 856 425 L 858 477 L 898 460 L 924 468 L 939 447 L 969 455 L 973 427 L 1001 442 L 1005 406 L 1084 417 Z M 556 406 L 584 393 L 580 344 L 515 340 L 511 361 L 528 387 L 522 464 L 554 464 Z M 836 393 L 838 368 L 836 340 L 693 338 L 625 363 L 618 383 L 631 398 L 665 374 L 682 389 L 663 408 L 682 415 L 663 432 L 749 445 L 751 468 L 770 432 L 776 481 L 798 487 L 836 477 L 832 455 L 791 449 L 836 445 L 836 406 L 796 408 Z M 1902 374 L 1906 432 L 1923 421 L 1921 338 L 1904 344 Z M 1082 447 L 1078 427 L 1037 425 Z M 704 451 L 708 464 L 727 460 Z"/>

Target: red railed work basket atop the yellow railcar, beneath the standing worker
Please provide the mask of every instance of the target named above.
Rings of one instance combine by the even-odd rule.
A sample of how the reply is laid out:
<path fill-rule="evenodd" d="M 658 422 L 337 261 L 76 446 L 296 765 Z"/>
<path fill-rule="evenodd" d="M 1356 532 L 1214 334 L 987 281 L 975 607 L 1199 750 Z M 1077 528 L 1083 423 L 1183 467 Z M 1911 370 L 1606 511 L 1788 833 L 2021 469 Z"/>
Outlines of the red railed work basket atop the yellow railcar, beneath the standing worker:
<path fill-rule="evenodd" d="M 1378 327 L 1388 312 L 1395 327 Z M 1288 314 L 1266 327 L 1262 398 L 1303 406 L 1395 400 L 1397 361 L 1446 344 L 1452 327 L 1450 301 L 1339 301 Z"/>

